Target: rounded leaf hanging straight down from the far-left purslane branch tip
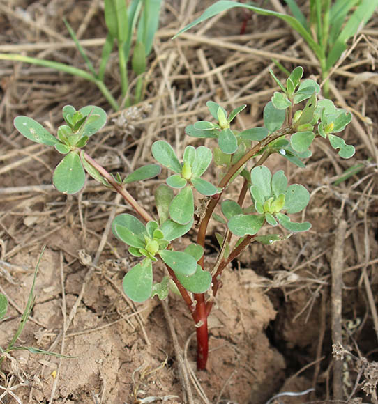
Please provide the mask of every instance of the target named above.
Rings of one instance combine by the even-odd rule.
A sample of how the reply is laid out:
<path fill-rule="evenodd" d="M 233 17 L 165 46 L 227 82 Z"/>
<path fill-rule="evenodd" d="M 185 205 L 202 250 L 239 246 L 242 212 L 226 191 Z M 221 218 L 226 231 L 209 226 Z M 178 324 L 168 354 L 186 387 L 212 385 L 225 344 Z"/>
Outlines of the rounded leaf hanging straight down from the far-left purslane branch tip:
<path fill-rule="evenodd" d="M 85 171 L 77 153 L 71 152 L 56 166 L 52 182 L 63 194 L 76 194 L 85 182 Z"/>

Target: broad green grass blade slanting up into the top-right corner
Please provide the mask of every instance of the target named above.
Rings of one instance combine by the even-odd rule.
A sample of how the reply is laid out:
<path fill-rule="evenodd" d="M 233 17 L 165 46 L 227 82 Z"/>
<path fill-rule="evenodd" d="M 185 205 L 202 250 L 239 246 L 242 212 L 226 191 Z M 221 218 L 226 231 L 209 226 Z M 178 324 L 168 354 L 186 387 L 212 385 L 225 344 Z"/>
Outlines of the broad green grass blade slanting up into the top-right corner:
<path fill-rule="evenodd" d="M 364 26 L 374 13 L 378 6 L 378 0 L 362 0 L 358 8 L 349 18 L 344 29 L 335 41 L 335 45 L 331 48 L 326 61 L 326 69 L 330 69 L 340 58 L 342 52 L 347 49 L 347 40 L 356 35 L 358 29 Z"/>

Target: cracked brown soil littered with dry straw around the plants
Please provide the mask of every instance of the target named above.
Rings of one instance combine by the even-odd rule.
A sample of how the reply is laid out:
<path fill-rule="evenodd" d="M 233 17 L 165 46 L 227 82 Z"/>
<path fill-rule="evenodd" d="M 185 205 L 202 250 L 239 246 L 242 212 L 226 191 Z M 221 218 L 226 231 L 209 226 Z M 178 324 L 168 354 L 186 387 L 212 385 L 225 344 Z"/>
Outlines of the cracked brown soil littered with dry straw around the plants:
<path fill-rule="evenodd" d="M 65 43 L 69 36 L 62 18 L 66 17 L 82 33 L 82 40 L 98 38 L 95 45 L 86 42 L 98 65 L 106 35 L 98 3 L 2 1 L 0 52 L 26 52 L 84 68 L 78 52 Z M 224 273 L 209 318 L 206 371 L 195 370 L 195 328 L 179 297 L 169 295 L 165 311 L 157 297 L 134 304 L 121 291 L 121 279 L 133 257 L 109 232 L 107 222 L 130 208 L 91 181 L 75 196 L 56 192 L 50 184 L 59 155 L 32 144 L 13 128 L 13 118 L 23 114 L 54 132 L 61 125 L 64 105 L 96 104 L 110 118 L 91 139 L 89 154 L 109 171 L 128 173 L 151 161 L 151 143 L 156 139 L 168 139 L 177 150 L 189 143 L 203 144 L 184 137 L 183 129 L 208 116 L 208 100 L 228 109 L 246 103 L 247 112 L 237 125 L 241 129 L 260 125 L 275 86 L 267 70 L 273 68 L 272 54 L 276 59 L 286 56 L 281 63 L 288 70 L 302 59 L 305 75 L 319 79 L 303 42 L 270 17 L 252 15 L 240 36 L 248 15 L 232 10 L 188 35 L 170 39 L 210 3 L 165 1 L 146 101 L 121 114 L 114 114 L 96 86 L 82 79 L 1 61 L 0 292 L 10 306 L 0 322 L 0 347 L 6 348 L 20 323 L 45 244 L 35 304 L 18 344 L 71 357 L 10 352 L 0 378 L 1 403 L 183 403 L 189 387 L 179 378 L 169 322 L 183 350 L 192 403 L 263 404 L 280 391 L 289 395 L 270 404 L 329 403 L 337 363 L 332 355 L 331 286 L 338 268 L 343 300 L 342 318 L 337 320 L 342 323 L 344 348 L 355 355 L 342 359 L 342 402 L 378 402 L 377 15 L 356 38 L 360 42 L 342 62 L 342 70 L 332 77 L 338 90 L 331 86 L 331 98 L 354 112 L 355 123 L 343 137 L 357 153 L 351 160 L 341 160 L 324 142 L 315 142 L 305 170 L 275 157 L 268 160 L 271 169 L 285 169 L 290 182 L 303 183 L 312 192 L 305 211 L 312 229 L 270 247 L 252 244 Z M 271 1 L 271 6 L 279 9 L 280 3 Z M 207 43 L 209 38 L 213 42 Z M 17 48 L 23 44 L 31 45 Z M 252 49 L 271 53 L 257 56 Z M 107 81 L 119 95 L 116 71 L 114 54 Z M 363 171 L 333 185 L 357 163 L 364 164 Z M 149 180 L 129 190 L 148 209 L 160 182 Z M 342 221 L 347 230 L 338 244 Z M 195 241 L 195 231 L 190 240 Z M 208 240 L 209 263 L 216 258 L 215 245 L 215 239 Z M 341 355 L 340 348 L 338 352 Z M 314 391 L 296 394 L 310 388 Z"/>

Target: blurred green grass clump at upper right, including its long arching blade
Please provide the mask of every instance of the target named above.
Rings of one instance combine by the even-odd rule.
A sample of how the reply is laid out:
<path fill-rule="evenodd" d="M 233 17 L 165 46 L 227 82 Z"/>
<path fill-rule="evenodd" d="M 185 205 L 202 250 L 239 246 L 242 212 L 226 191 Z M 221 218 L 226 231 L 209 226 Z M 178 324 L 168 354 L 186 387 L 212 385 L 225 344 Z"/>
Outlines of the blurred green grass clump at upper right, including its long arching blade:
<path fill-rule="evenodd" d="M 181 29 L 176 36 L 193 26 L 234 7 L 247 8 L 260 15 L 278 17 L 299 33 L 317 57 L 322 71 L 324 93 L 329 96 L 328 75 L 347 49 L 347 41 L 368 23 L 378 6 L 378 0 L 310 0 L 309 20 L 294 0 L 285 0 L 292 15 L 277 13 L 266 8 L 250 6 L 237 1 L 220 0 L 197 20 Z M 176 37 L 175 36 L 175 37 Z"/>

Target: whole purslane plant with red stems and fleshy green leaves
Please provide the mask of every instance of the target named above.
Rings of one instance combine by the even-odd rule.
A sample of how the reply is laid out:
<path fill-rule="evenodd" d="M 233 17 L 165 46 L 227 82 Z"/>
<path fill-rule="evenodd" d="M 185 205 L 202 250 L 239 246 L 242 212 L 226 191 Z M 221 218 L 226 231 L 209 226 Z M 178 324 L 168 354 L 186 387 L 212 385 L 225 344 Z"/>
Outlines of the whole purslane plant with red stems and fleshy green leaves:
<path fill-rule="evenodd" d="M 108 173 L 83 150 L 89 137 L 105 124 L 106 114 L 102 109 L 87 106 L 75 111 L 72 106 L 64 107 L 66 124 L 59 127 L 57 137 L 31 118 L 15 118 L 15 127 L 25 137 L 54 146 L 66 155 L 54 171 L 56 189 L 66 194 L 79 192 L 86 172 L 105 186 L 113 187 L 139 215 L 140 220 L 122 214 L 112 224 L 116 238 L 128 244 L 130 254 L 140 258 L 123 278 L 123 290 L 136 302 L 154 295 L 165 299 L 169 289 L 179 291 L 195 322 L 199 369 L 206 366 L 207 318 L 225 267 L 251 242 L 272 244 L 311 227 L 308 222 L 294 222 L 290 217 L 308 205 L 308 190 L 303 185 L 288 185 L 282 170 L 271 173 L 262 164 L 271 154 L 278 153 L 304 168 L 303 160 L 312 155 L 310 146 L 315 138 L 328 140 L 340 157 L 354 155 L 354 147 L 335 134 L 342 132 L 351 121 L 349 112 L 336 108 L 330 100 L 318 101 L 319 85 L 310 79 L 301 80 L 303 68 L 295 68 L 285 84 L 271 73 L 281 91 L 275 92 L 264 107 L 262 127 L 238 132 L 231 124 L 245 105 L 227 114 L 216 102 L 208 102 L 215 122 L 188 125 L 186 134 L 213 139 L 212 150 L 187 146 L 181 158 L 167 141 L 153 143 L 153 157 L 172 173 L 167 174 L 166 184 L 155 190 L 157 215 L 153 215 L 152 206 L 151 213 L 144 210 L 125 186 L 159 175 L 158 164 L 142 166 L 122 180 L 119 173 Z M 202 178 L 211 162 L 219 176 L 216 184 Z M 239 185 L 239 196 L 236 201 L 227 199 L 227 189 L 237 178 L 243 182 Z M 218 204 L 220 210 L 216 212 Z M 216 233 L 220 251 L 216 263 L 209 267 L 204 251 L 211 219 L 219 222 L 223 230 Z M 175 240 L 193 227 L 197 228 L 197 242 L 176 251 L 180 244 Z M 260 232 L 262 228 L 264 234 Z M 159 261 L 167 268 L 167 276 L 156 281 L 153 267 Z"/>

